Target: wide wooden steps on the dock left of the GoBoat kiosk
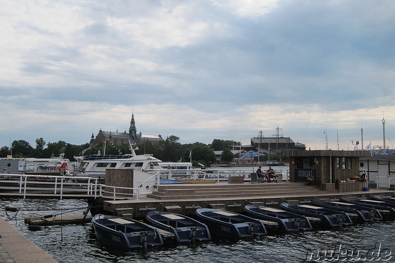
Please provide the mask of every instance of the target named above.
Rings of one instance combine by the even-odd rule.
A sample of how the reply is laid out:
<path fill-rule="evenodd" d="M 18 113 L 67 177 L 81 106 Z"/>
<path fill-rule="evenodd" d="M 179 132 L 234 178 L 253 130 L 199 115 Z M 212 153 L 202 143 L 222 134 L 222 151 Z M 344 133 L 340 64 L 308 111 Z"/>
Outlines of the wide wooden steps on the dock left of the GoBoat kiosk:
<path fill-rule="evenodd" d="M 267 197 L 286 195 L 325 194 L 317 186 L 306 183 L 263 183 L 263 184 L 182 184 L 162 185 L 147 197 L 158 200 L 185 200 L 204 198 Z"/>

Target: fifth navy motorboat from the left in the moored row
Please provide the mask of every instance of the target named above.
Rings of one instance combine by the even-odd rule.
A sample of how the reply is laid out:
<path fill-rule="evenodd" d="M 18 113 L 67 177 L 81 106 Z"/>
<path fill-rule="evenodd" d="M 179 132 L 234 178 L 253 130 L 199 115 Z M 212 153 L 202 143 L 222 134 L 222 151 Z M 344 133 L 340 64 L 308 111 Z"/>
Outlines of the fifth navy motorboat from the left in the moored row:
<path fill-rule="evenodd" d="M 343 212 L 328 209 L 320 206 L 307 204 L 290 204 L 281 203 L 281 207 L 287 211 L 305 216 L 317 217 L 321 219 L 323 227 L 342 227 L 343 225 L 352 225 L 351 218 Z"/>

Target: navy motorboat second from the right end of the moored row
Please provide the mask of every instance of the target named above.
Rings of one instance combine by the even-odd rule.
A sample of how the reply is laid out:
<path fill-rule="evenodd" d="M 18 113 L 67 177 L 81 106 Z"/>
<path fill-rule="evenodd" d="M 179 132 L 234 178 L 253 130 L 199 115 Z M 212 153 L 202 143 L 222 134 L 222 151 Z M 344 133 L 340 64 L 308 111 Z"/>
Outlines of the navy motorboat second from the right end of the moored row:
<path fill-rule="evenodd" d="M 340 197 L 340 201 L 377 209 L 385 219 L 395 219 L 395 204 L 360 197 Z"/>

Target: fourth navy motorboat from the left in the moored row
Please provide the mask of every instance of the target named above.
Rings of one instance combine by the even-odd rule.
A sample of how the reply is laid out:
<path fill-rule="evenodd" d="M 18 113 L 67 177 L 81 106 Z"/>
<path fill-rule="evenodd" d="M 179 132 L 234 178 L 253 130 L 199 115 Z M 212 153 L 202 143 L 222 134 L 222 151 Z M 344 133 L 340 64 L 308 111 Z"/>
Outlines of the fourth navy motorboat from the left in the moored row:
<path fill-rule="evenodd" d="M 313 229 L 309 220 L 305 216 L 301 216 L 289 211 L 253 205 L 246 205 L 244 210 L 252 218 L 276 222 L 278 224 L 277 229 L 279 231 L 299 232 L 300 230 Z"/>

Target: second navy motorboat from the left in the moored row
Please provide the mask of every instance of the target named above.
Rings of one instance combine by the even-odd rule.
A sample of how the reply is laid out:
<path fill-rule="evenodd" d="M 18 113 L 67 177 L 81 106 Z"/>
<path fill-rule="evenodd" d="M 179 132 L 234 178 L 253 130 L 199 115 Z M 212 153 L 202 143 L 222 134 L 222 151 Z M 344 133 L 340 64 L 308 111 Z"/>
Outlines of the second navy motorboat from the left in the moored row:
<path fill-rule="evenodd" d="M 211 235 L 207 225 L 184 215 L 170 212 L 151 211 L 146 216 L 149 224 L 175 235 L 177 242 L 195 242 L 195 240 L 210 240 Z"/>

